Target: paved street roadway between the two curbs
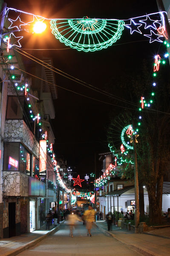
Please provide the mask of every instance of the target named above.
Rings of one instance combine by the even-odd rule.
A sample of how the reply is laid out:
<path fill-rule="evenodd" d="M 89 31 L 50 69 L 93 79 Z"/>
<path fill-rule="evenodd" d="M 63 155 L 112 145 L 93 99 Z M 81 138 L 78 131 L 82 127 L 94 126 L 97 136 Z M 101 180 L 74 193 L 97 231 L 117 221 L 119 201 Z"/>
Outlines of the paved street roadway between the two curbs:
<path fill-rule="evenodd" d="M 19 256 L 139 256 L 141 254 L 130 250 L 114 238 L 108 237 L 98 229 L 92 229 L 92 237 L 86 236 L 86 228 L 78 223 L 73 231 L 74 237 L 69 236 L 69 227 L 66 224 L 54 235 L 50 235 L 35 247 L 30 248 Z"/>

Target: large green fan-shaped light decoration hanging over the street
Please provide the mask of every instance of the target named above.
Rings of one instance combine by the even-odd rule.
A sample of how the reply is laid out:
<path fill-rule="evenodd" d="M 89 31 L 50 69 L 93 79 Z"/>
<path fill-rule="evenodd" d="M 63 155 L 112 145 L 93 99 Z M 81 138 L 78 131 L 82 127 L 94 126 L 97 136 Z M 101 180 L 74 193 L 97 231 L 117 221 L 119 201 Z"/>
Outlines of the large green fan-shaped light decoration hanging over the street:
<path fill-rule="evenodd" d="M 115 43 L 122 34 L 124 21 L 103 19 L 51 20 L 52 33 L 67 46 L 78 51 L 95 51 Z"/>

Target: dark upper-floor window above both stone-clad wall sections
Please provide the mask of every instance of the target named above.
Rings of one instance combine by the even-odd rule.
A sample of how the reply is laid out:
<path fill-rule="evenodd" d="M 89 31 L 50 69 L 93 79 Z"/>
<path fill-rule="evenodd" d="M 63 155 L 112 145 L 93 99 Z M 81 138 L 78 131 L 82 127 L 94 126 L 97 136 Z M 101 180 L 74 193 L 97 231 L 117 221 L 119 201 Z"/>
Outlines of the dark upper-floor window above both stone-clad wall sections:
<path fill-rule="evenodd" d="M 24 97 L 9 96 L 6 119 L 23 119 Z"/>

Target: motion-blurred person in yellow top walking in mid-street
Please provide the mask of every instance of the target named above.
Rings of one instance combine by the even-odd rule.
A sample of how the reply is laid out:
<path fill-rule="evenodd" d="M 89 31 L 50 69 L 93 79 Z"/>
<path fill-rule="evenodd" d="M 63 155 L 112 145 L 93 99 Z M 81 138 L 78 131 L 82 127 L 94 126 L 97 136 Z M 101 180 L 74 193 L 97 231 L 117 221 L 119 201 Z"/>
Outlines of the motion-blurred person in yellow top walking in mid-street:
<path fill-rule="evenodd" d="M 91 229 L 92 224 L 95 221 L 95 210 L 92 209 L 92 206 L 89 205 L 88 210 L 84 212 L 83 219 L 86 221 L 87 235 L 92 237 Z"/>

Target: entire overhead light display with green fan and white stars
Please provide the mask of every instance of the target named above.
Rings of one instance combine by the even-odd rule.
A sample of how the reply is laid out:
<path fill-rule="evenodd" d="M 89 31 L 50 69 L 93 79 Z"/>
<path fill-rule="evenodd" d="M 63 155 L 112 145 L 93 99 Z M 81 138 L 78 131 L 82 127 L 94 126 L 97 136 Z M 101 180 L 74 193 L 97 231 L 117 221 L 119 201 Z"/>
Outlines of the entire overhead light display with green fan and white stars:
<path fill-rule="evenodd" d="M 5 34 L 3 39 L 6 41 L 6 48 L 21 47 L 20 40 L 23 38 L 23 30 L 31 30 L 35 21 L 42 21 L 47 26 L 51 26 L 52 33 L 66 46 L 77 49 L 78 51 L 95 51 L 107 48 L 114 44 L 120 37 L 124 28 L 130 34 L 139 33 L 149 38 L 150 43 L 163 42 L 167 39 L 164 15 L 166 12 L 156 12 L 127 20 L 100 19 L 100 18 L 71 18 L 71 19 L 50 19 L 40 15 L 23 12 L 14 8 L 6 8 L 6 15 L 12 13 L 14 19 L 9 21 L 9 38 Z M 14 33 L 17 32 L 15 36 Z M 14 40 L 10 40 L 11 36 Z M 13 44 L 13 41 L 15 42 Z"/>

